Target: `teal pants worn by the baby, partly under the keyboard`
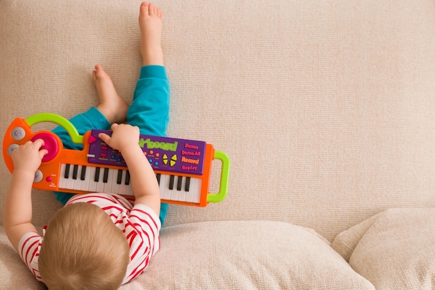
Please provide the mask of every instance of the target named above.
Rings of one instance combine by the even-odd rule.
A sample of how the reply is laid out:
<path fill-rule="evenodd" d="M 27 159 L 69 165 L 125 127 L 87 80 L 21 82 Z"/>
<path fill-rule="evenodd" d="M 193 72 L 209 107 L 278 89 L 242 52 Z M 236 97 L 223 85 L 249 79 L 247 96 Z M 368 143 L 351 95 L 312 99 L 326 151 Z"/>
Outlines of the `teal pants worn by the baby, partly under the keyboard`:
<path fill-rule="evenodd" d="M 133 94 L 133 102 L 127 112 L 127 123 L 140 128 L 140 134 L 167 136 L 169 122 L 170 87 L 165 67 L 149 65 L 140 68 L 140 76 Z M 97 108 L 74 116 L 69 120 L 83 135 L 92 129 L 110 129 L 108 120 Z M 56 127 L 53 132 L 59 136 L 67 149 L 82 150 L 83 145 L 72 143 L 63 127 Z M 54 192 L 56 200 L 66 204 L 72 193 Z M 160 220 L 163 225 L 167 214 L 167 204 L 161 204 Z"/>

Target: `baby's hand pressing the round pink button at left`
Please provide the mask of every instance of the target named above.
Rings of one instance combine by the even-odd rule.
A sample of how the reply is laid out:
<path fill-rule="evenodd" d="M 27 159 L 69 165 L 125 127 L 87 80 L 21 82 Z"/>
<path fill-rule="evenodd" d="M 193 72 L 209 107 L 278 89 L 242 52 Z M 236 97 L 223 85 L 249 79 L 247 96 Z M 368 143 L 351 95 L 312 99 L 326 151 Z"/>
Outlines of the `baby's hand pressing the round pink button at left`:
<path fill-rule="evenodd" d="M 14 150 L 11 154 L 14 170 L 28 170 L 35 173 L 41 165 L 42 157 L 48 153 L 45 149 L 40 150 L 43 145 L 44 140 L 37 139 L 35 142 L 27 141 Z"/>

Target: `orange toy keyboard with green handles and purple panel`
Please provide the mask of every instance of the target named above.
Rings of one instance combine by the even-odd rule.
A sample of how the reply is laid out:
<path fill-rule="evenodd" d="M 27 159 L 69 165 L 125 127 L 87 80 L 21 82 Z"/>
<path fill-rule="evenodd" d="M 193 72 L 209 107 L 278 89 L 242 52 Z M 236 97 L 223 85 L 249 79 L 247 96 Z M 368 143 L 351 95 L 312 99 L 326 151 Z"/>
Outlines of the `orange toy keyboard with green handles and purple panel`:
<path fill-rule="evenodd" d="M 33 133 L 31 126 L 39 122 L 54 122 L 62 126 L 72 142 L 83 144 L 83 150 L 69 150 L 51 131 Z M 129 170 L 120 152 L 101 139 L 100 132 L 92 130 L 79 135 L 74 125 L 60 115 L 40 113 L 29 118 L 16 118 L 8 127 L 3 140 L 3 157 L 10 172 L 13 161 L 10 154 L 28 140 L 44 140 L 42 149 L 48 154 L 33 180 L 33 188 L 66 193 L 104 192 L 133 198 Z M 205 207 L 209 202 L 220 202 L 227 195 L 230 161 L 227 154 L 213 145 L 197 140 L 140 135 L 139 145 L 160 186 L 162 202 Z M 218 193 L 209 193 L 211 163 L 222 161 Z"/>

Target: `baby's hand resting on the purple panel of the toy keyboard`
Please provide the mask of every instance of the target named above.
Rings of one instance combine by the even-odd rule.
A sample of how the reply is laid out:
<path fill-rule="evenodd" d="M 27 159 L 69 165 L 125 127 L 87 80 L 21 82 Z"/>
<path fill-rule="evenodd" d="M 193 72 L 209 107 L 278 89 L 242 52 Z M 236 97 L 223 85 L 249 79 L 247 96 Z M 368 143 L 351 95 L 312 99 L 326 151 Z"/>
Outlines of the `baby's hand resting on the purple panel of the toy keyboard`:
<path fill-rule="evenodd" d="M 129 124 L 112 124 L 112 136 L 105 133 L 98 134 L 98 137 L 107 145 L 119 152 L 122 152 L 127 147 L 138 146 L 139 143 L 139 128 Z"/>

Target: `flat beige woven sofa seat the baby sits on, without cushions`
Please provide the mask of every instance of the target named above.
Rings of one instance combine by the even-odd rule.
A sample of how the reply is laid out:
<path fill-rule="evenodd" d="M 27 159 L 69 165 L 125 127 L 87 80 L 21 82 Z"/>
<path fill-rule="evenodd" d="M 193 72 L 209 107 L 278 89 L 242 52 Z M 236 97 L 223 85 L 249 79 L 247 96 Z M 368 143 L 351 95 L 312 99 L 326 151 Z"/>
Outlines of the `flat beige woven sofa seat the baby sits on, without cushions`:
<path fill-rule="evenodd" d="M 139 3 L 1 0 L 0 131 L 17 116 L 97 104 L 96 63 L 131 100 Z M 232 161 L 227 200 L 170 207 L 166 225 L 279 220 L 331 241 L 388 207 L 435 206 L 434 1 L 156 3 L 168 134 Z M 2 205 L 3 161 L 0 176 Z M 39 225 L 59 207 L 49 193 L 34 202 Z"/>

